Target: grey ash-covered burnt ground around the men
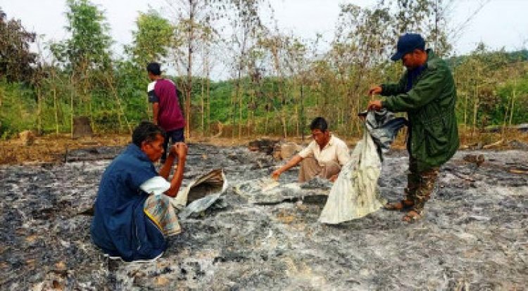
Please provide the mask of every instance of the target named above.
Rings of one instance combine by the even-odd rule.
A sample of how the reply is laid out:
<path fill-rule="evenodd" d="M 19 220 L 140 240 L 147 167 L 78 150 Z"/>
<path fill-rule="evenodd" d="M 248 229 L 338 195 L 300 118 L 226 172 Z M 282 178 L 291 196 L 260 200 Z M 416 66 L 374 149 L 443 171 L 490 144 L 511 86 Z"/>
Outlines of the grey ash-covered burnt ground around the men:
<path fill-rule="evenodd" d="M 415 224 L 379 210 L 328 226 L 317 221 L 325 200 L 306 199 L 309 193 L 304 201 L 253 204 L 234 190 L 269 176 L 276 164 L 270 156 L 191 144 L 185 182 L 222 167 L 230 182 L 227 207 L 182 221 L 184 232 L 169 239 L 163 257 L 143 264 L 105 259 L 90 242 L 91 216 L 82 214 L 110 162 L 98 155 L 119 150 L 0 166 L 0 290 L 528 288 L 526 150 L 460 151 L 443 167 L 427 216 Z M 406 164 L 403 151 L 386 157 L 379 180 L 385 198 L 400 198 Z"/>

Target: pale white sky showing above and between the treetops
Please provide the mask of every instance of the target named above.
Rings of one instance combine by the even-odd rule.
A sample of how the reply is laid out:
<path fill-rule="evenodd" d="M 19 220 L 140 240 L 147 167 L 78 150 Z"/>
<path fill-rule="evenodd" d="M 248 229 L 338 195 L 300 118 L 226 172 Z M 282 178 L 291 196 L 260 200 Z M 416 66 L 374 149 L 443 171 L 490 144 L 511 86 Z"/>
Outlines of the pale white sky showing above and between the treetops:
<path fill-rule="evenodd" d="M 161 8 L 170 0 L 91 0 L 106 11 L 106 18 L 115 41 L 114 51 L 120 53 L 123 44 L 131 41 L 134 20 L 138 11 L 149 6 Z M 175 0 L 172 0 L 175 1 Z M 458 0 L 451 15 L 453 25 L 466 20 L 484 0 Z M 313 39 L 316 33 L 330 40 L 339 14 L 339 3 L 353 3 L 367 7 L 375 0 L 270 0 L 275 9 L 279 28 Z M 44 34 L 44 41 L 67 37 L 65 26 L 65 0 L 0 0 L 0 8 L 8 19 L 23 22 L 27 30 Z M 479 41 L 490 48 L 505 47 L 513 51 L 528 46 L 528 0 L 491 0 L 455 42 L 455 53 L 472 51 Z M 388 56 L 387 56 L 388 57 Z"/>

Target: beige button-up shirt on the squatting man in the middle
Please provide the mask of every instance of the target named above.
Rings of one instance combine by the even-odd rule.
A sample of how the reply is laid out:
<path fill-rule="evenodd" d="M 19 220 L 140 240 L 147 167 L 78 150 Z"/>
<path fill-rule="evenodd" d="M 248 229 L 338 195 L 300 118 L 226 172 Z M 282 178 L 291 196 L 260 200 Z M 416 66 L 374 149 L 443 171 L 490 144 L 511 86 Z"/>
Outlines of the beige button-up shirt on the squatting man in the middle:
<path fill-rule="evenodd" d="M 322 166 L 326 162 L 337 162 L 341 167 L 350 160 L 350 153 L 344 141 L 332 134 L 325 148 L 320 149 L 318 143 L 312 141 L 298 155 L 302 158 L 314 157 Z"/>

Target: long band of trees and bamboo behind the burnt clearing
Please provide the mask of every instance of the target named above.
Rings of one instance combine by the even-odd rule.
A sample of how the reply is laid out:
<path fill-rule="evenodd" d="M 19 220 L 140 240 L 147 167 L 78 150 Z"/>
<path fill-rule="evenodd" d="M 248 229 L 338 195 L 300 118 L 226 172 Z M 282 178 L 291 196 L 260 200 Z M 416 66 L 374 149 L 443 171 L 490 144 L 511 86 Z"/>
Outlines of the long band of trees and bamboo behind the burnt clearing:
<path fill-rule="evenodd" d="M 461 127 L 527 122 L 527 51 L 453 56 L 447 0 L 379 0 L 370 8 L 342 4 L 335 35 L 302 39 L 282 32 L 264 0 L 166 0 L 163 11 L 137 15 L 132 43 L 115 56 L 103 11 L 88 0 L 66 1 L 68 38 L 39 43 L 16 15 L 0 7 L 0 134 L 31 129 L 71 132 L 89 117 L 96 133 L 128 132 L 149 119 L 145 65 L 163 64 L 182 92 L 187 136 L 301 136 L 326 117 L 340 136 L 357 136 L 357 112 L 372 84 L 396 81 L 391 63 L 398 35 L 420 32 L 448 58 L 458 88 Z M 271 21 L 270 21 L 271 20 Z M 37 44 L 33 53 L 30 45 Z M 211 77 L 221 72 L 220 79 Z M 218 74 L 217 74 L 218 75 Z"/>

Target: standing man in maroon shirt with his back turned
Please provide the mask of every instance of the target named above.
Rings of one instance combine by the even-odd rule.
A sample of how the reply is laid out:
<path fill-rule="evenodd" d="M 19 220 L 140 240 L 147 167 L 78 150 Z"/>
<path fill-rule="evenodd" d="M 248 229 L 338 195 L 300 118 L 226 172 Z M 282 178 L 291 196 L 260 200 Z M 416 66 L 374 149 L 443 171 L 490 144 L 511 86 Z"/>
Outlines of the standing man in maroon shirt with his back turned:
<path fill-rule="evenodd" d="M 161 163 L 167 157 L 167 145 L 169 138 L 171 143 L 185 141 L 183 131 L 185 118 L 180 109 L 180 101 L 176 90 L 176 85 L 170 80 L 161 77 L 160 64 L 149 63 L 146 66 L 149 79 L 152 81 L 147 89 L 149 102 L 152 103 L 153 123 L 159 125 L 167 132 L 163 143 L 163 156 Z"/>

